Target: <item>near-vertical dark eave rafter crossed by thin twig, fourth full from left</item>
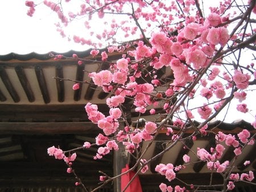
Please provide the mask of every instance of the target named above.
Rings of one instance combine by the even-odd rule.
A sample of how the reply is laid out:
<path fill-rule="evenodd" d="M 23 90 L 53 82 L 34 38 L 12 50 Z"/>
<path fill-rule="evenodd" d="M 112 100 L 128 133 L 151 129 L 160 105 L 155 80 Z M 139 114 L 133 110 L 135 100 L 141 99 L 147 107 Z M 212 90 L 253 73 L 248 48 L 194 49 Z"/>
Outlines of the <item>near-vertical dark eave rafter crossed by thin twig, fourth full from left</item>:
<path fill-rule="evenodd" d="M 55 67 L 56 77 L 63 78 L 63 65 L 57 64 Z M 58 93 L 58 101 L 64 102 L 65 99 L 65 89 L 64 89 L 64 81 L 56 79 L 57 93 Z"/>

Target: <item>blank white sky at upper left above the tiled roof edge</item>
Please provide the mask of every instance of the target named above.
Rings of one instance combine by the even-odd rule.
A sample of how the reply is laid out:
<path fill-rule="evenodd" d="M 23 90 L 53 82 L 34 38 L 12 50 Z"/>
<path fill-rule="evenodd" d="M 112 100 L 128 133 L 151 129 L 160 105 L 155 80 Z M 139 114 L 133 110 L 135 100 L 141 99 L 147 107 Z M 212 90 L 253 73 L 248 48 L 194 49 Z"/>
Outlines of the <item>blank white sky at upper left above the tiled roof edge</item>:
<path fill-rule="evenodd" d="M 27 16 L 25 1 L 0 1 L 0 55 L 10 52 L 26 54 L 30 52 L 85 51 L 85 45 L 68 42 L 56 31 L 54 22 L 48 21 L 54 14 L 42 14 L 44 6 L 38 7 L 35 15 Z"/>

